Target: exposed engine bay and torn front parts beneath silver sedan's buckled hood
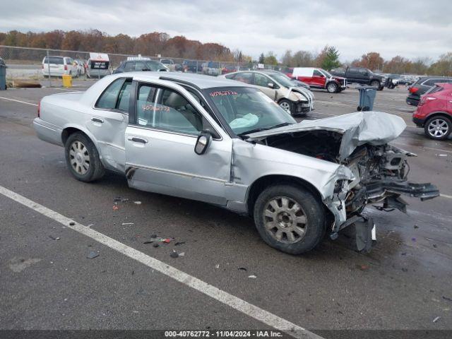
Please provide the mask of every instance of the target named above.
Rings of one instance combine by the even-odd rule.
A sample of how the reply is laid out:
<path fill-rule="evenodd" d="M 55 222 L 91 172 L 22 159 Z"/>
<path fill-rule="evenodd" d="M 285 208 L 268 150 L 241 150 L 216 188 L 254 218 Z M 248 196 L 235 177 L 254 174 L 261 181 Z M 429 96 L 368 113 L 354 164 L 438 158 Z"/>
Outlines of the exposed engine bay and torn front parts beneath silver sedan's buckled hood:
<path fill-rule="evenodd" d="M 334 196 L 338 201 L 345 201 L 347 221 L 343 225 L 333 225 L 333 234 L 359 222 L 362 223 L 362 232 L 367 232 L 367 229 L 370 232 L 373 224 L 369 225 L 368 220 L 359 220 L 362 218 L 360 213 L 369 204 L 382 203 L 382 206 L 375 207 L 386 211 L 398 209 L 406 213 L 407 203 L 400 198 L 401 194 L 421 200 L 439 195 L 438 189 L 432 184 L 408 182 L 410 166 L 407 160 L 408 157 L 415 157 L 415 154 L 388 144 L 365 143 L 340 160 L 342 141 L 342 133 L 321 129 L 268 136 L 260 141 L 270 147 L 345 165 L 353 172 L 355 179 L 352 182 L 339 180 L 335 184 Z"/>

